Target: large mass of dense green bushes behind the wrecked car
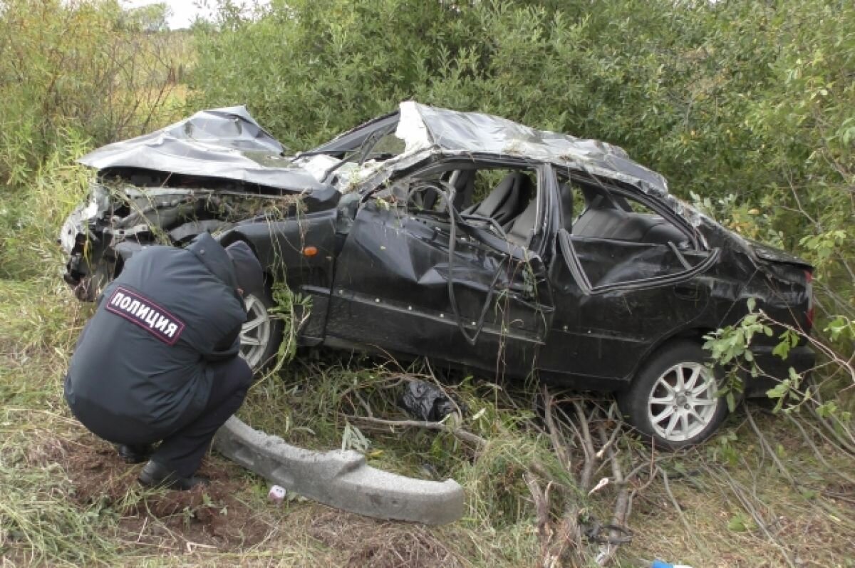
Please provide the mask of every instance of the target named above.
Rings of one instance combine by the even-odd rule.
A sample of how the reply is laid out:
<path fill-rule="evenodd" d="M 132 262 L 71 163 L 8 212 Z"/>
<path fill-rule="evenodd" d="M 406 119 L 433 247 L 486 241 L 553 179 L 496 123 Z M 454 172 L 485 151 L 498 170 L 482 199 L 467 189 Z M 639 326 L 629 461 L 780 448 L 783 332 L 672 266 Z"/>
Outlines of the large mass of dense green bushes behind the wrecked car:
<path fill-rule="evenodd" d="M 295 149 L 407 98 L 608 140 L 816 263 L 820 315 L 852 317 L 853 25 L 831 0 L 227 3 L 193 96 Z"/>

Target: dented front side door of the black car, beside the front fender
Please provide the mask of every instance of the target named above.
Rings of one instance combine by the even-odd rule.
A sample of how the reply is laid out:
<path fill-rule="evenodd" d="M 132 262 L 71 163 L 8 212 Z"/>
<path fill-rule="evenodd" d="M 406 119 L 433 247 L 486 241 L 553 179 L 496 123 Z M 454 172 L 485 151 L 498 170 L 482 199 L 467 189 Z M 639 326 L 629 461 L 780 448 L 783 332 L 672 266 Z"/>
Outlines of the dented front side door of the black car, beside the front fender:
<path fill-rule="evenodd" d="M 415 205 L 427 200 L 418 192 L 453 191 L 437 180 L 456 168 L 477 166 L 439 164 L 363 200 L 336 261 L 327 344 L 515 376 L 532 370 L 552 309 L 540 255 L 488 221 L 452 215 L 447 200 L 430 210 Z"/>

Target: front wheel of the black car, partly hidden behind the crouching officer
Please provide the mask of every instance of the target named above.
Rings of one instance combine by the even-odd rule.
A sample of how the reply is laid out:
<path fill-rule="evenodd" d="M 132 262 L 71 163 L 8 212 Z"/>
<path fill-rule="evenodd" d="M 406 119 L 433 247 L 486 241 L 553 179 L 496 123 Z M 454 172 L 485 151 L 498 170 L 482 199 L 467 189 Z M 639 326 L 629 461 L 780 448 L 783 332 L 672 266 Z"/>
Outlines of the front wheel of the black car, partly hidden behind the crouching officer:
<path fill-rule="evenodd" d="M 244 303 L 248 319 L 240 331 L 240 356 L 258 376 L 276 361 L 282 341 L 282 322 L 270 315 L 274 301 L 268 286 L 262 293 L 246 294 Z"/>

